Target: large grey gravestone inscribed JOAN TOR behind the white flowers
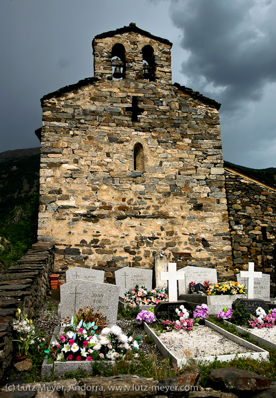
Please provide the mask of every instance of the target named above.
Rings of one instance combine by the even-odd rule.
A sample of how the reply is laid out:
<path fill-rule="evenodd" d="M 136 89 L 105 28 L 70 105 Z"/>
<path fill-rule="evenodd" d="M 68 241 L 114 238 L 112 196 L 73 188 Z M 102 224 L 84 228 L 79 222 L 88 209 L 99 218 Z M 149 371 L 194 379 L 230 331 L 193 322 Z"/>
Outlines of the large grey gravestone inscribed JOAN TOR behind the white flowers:
<path fill-rule="evenodd" d="M 95 283 L 75 279 L 60 287 L 60 314 L 67 318 L 85 306 L 93 307 L 93 312 L 106 316 L 109 325 L 117 321 L 119 287 L 107 283 Z"/>

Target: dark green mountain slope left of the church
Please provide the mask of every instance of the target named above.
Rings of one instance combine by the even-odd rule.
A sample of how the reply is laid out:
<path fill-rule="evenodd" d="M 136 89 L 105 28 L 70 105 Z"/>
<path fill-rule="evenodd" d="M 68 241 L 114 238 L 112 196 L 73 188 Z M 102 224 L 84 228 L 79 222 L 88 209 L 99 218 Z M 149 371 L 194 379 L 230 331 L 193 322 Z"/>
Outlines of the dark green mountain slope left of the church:
<path fill-rule="evenodd" d="M 36 242 L 39 148 L 0 153 L 0 268 Z"/>

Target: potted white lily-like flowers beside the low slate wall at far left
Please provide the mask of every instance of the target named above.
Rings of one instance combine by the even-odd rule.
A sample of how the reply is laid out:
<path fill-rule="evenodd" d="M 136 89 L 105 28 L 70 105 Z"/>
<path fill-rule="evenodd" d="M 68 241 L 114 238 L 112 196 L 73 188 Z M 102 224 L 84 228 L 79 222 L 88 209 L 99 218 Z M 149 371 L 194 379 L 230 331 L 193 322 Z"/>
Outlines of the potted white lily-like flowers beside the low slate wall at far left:
<path fill-rule="evenodd" d="M 20 308 L 17 308 L 15 318 L 12 318 L 12 328 L 17 332 L 17 339 L 12 341 L 17 342 L 18 356 L 27 355 L 29 347 L 35 343 L 38 343 L 38 347 L 42 345 L 39 344 L 41 340 L 34 330 L 32 320 L 28 319 L 27 314 L 21 313 Z"/>

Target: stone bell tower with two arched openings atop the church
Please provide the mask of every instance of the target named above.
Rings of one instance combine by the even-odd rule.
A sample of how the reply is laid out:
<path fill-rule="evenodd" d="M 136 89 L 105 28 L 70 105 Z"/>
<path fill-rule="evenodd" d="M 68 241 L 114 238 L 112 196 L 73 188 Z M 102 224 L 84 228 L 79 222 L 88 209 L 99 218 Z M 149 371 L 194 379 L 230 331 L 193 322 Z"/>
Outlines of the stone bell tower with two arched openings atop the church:
<path fill-rule="evenodd" d="M 172 84 L 169 40 L 130 23 L 92 41 L 94 76 L 100 80 L 148 80 Z"/>

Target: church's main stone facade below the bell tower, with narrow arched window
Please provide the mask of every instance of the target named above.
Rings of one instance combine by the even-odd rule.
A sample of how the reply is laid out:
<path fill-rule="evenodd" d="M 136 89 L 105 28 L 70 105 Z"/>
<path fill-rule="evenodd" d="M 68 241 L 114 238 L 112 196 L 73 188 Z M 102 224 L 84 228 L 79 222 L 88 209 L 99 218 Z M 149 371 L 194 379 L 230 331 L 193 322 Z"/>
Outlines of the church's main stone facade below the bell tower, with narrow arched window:
<path fill-rule="evenodd" d="M 117 268 L 152 268 L 166 248 L 179 268 L 233 276 L 218 104 L 202 99 L 170 84 L 93 79 L 42 99 L 38 239 L 56 244 L 56 272 L 81 265 L 114 282 Z M 138 142 L 144 173 L 133 170 Z"/>

